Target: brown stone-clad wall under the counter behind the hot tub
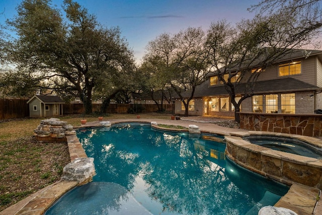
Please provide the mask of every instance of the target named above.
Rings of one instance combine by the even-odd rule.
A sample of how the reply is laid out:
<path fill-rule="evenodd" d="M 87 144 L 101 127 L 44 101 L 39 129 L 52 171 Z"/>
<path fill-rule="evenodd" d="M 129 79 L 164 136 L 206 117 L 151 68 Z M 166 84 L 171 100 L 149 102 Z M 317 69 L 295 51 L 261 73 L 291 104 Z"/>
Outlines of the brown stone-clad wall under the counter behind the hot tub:
<path fill-rule="evenodd" d="M 322 135 L 322 114 L 271 114 L 240 112 L 240 128 L 304 136 Z"/>

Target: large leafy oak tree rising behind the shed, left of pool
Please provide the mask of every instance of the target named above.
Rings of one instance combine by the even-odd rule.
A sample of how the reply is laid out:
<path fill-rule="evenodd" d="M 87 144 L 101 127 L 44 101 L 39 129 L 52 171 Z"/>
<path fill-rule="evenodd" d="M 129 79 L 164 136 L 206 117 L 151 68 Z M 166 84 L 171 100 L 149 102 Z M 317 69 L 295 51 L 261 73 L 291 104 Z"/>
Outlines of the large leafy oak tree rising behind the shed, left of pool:
<path fill-rule="evenodd" d="M 18 36 L 12 60 L 34 86 L 78 95 L 91 113 L 95 87 L 114 81 L 118 73 L 131 73 L 133 53 L 119 28 L 101 26 L 78 3 L 64 0 L 64 13 L 50 3 L 24 0 L 18 6 L 9 21 Z"/>

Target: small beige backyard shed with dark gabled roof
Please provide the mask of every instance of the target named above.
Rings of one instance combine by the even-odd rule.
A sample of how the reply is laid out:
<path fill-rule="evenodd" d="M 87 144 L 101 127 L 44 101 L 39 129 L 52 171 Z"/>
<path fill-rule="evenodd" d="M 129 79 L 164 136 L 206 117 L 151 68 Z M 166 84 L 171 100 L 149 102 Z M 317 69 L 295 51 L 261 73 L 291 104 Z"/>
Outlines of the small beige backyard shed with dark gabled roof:
<path fill-rule="evenodd" d="M 27 102 L 30 117 L 50 117 L 62 115 L 64 101 L 58 96 L 35 95 Z"/>

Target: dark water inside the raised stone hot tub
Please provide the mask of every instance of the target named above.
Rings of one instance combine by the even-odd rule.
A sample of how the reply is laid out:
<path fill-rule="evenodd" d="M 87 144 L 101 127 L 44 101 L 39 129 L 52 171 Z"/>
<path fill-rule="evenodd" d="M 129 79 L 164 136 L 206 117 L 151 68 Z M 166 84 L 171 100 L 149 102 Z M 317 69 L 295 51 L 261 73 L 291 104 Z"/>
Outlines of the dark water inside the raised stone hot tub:
<path fill-rule="evenodd" d="M 322 159 L 322 149 L 308 144 L 308 142 L 290 137 L 271 135 L 251 135 L 244 139 L 259 146 L 273 150 L 301 155 L 310 158 Z"/>

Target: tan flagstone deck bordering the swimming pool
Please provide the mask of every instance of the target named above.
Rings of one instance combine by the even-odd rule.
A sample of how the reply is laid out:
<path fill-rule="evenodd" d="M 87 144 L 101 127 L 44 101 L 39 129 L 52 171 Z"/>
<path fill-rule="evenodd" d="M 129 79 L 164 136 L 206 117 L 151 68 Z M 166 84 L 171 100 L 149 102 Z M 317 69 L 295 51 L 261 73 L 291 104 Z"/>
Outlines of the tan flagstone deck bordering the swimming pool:
<path fill-rule="evenodd" d="M 229 135 L 232 132 L 246 131 L 239 128 L 228 128 L 221 127 L 213 124 L 213 121 L 222 121 L 227 119 L 218 119 L 214 117 L 185 117 L 181 120 L 171 119 L 104 119 L 104 121 L 110 121 L 111 123 L 117 122 L 156 122 L 157 124 L 168 124 L 168 125 L 181 125 L 188 127 L 189 125 L 197 125 L 202 132 L 216 133 L 220 135 Z M 101 126 L 100 121 L 89 122 L 86 125 L 82 125 L 74 128 L 82 127 L 95 127 Z M 79 142 L 76 135 L 67 136 L 68 148 L 70 159 L 84 158 L 87 157 L 85 151 Z M 55 182 L 36 193 L 28 196 L 20 202 L 6 208 L 0 212 L 0 215 L 40 215 L 44 212 L 64 193 L 77 186 L 76 181 L 65 181 L 60 180 Z M 286 195 L 284 195 L 275 206 L 285 207 L 293 210 L 299 215 L 309 214 L 322 214 L 322 201 L 318 201 L 321 196 L 320 190 L 304 186 L 301 184 L 293 184 Z"/>

